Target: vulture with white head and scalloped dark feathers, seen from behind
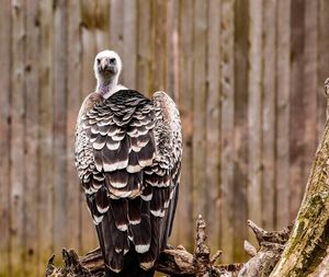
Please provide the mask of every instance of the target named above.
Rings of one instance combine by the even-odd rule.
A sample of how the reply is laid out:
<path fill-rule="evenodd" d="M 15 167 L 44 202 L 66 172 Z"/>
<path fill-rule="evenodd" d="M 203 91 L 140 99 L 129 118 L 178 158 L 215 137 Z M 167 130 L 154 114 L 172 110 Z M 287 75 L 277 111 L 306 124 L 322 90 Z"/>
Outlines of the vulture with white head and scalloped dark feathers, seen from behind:
<path fill-rule="evenodd" d="M 150 277 L 178 204 L 182 127 L 174 101 L 118 84 L 113 50 L 94 59 L 97 88 L 76 125 L 75 163 L 95 226 L 105 276 Z"/>

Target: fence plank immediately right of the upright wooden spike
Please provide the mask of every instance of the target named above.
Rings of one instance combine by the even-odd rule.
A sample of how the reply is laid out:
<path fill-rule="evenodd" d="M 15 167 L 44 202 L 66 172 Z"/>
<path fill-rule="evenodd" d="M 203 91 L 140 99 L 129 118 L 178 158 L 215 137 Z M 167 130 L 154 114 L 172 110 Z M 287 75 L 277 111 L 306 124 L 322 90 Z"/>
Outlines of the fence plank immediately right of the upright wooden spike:
<path fill-rule="evenodd" d="M 205 184 L 209 220 L 208 238 L 213 249 L 219 247 L 220 238 L 220 0 L 209 0 L 207 7 L 207 100 L 206 100 L 206 161 Z M 218 16 L 219 15 L 219 16 Z"/>

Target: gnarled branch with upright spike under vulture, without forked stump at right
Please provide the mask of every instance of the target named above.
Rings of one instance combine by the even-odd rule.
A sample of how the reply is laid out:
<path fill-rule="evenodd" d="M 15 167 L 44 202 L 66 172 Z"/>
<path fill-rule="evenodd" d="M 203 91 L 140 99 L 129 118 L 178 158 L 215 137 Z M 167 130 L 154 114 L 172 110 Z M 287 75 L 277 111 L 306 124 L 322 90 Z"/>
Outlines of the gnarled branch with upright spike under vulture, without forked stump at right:
<path fill-rule="evenodd" d="M 235 277 L 243 264 L 215 265 L 222 252 L 211 256 L 211 249 L 206 244 L 206 223 L 200 216 L 196 221 L 196 242 L 194 254 L 183 246 L 168 246 L 156 265 L 158 272 L 169 276 L 222 276 Z M 54 255 L 49 258 L 46 277 L 98 277 L 102 276 L 105 265 L 100 249 L 78 257 L 75 251 L 63 250 L 64 267 L 54 265 Z"/>

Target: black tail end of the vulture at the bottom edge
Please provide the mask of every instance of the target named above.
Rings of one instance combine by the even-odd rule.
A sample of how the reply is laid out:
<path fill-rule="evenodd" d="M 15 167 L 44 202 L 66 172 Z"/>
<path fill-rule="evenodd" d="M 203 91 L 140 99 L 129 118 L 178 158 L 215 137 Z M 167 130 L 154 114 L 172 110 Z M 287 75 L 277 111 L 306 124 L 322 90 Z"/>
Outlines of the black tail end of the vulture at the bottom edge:
<path fill-rule="evenodd" d="M 105 277 L 152 277 L 154 275 L 155 269 L 144 270 L 139 267 L 137 253 L 132 249 L 125 255 L 124 267 L 120 273 L 105 270 Z"/>

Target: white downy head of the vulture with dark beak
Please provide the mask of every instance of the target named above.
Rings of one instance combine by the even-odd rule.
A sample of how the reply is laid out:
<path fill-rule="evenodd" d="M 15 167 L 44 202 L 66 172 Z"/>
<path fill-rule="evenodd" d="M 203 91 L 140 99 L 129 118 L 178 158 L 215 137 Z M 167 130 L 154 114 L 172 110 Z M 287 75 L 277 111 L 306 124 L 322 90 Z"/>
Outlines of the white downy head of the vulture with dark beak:
<path fill-rule="evenodd" d="M 103 50 L 94 58 L 93 70 L 98 82 L 117 82 L 121 69 L 122 61 L 115 51 Z"/>

